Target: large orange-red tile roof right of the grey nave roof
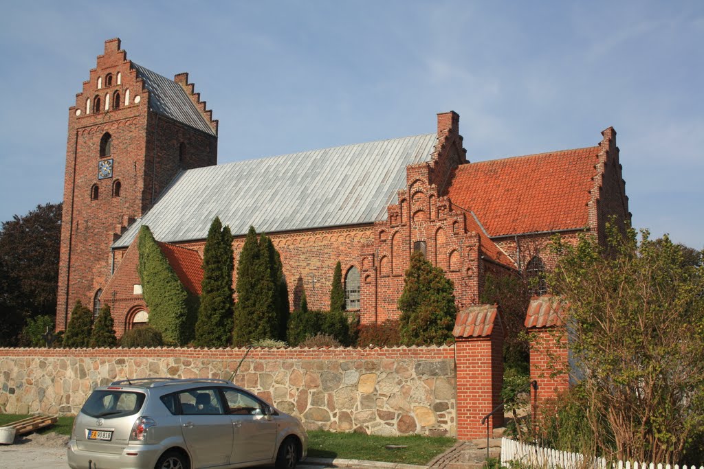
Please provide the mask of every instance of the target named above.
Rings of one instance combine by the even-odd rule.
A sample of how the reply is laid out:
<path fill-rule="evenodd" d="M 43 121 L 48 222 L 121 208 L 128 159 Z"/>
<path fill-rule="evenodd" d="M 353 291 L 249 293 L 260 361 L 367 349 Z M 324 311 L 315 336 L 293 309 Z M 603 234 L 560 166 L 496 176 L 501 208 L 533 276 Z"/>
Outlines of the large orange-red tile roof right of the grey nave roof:
<path fill-rule="evenodd" d="M 600 147 L 460 165 L 453 205 L 472 211 L 489 236 L 587 226 Z"/>

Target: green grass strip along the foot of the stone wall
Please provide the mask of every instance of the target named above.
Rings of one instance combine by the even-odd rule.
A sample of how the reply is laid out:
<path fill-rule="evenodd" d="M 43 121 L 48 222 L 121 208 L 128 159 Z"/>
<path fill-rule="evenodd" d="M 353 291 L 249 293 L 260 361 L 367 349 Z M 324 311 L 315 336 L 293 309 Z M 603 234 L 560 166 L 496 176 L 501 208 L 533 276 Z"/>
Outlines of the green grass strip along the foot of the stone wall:
<path fill-rule="evenodd" d="M 0 427 L 30 416 L 0 414 Z M 39 433 L 56 432 L 70 436 L 73 417 L 59 417 L 58 423 Z M 404 445 L 406 448 L 386 449 L 387 444 Z M 308 456 L 311 458 L 345 458 L 389 463 L 425 464 L 455 444 L 454 438 L 379 437 L 359 433 L 332 433 L 322 430 L 308 432 Z"/>

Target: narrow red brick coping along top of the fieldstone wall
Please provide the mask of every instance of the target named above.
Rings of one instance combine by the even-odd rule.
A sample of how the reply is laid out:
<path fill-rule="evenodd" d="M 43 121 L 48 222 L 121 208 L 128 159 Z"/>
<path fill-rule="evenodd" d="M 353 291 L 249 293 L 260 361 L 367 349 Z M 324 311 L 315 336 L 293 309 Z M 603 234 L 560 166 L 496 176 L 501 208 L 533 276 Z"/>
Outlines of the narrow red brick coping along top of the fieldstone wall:
<path fill-rule="evenodd" d="M 0 356 L 42 356 L 56 358 L 130 358 L 179 356 L 183 359 L 241 359 L 246 348 L 188 348 L 188 347 L 144 347 L 144 348 L 46 348 L 46 347 L 0 347 Z M 428 347 L 322 347 L 300 348 L 253 347 L 247 354 L 248 359 L 455 359 L 455 346 L 431 345 Z"/>

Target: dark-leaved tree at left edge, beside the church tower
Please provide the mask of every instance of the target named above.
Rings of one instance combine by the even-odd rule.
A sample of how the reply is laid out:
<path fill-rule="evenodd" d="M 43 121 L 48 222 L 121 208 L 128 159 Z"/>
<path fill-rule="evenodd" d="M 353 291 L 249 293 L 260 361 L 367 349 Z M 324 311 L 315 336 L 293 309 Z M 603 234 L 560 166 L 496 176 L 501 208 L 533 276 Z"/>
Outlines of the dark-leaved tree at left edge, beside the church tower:
<path fill-rule="evenodd" d="M 0 346 L 17 345 L 25 321 L 56 315 L 61 203 L 37 205 L 0 231 Z"/>

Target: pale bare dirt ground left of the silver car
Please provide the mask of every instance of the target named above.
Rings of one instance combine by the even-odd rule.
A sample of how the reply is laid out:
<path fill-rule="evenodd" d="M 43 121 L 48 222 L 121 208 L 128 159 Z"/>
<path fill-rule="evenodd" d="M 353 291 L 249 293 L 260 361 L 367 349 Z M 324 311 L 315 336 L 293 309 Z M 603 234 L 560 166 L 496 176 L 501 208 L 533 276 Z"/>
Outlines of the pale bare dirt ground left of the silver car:
<path fill-rule="evenodd" d="M 0 468 L 66 469 L 68 437 L 49 432 L 16 437 L 14 444 L 0 444 Z"/>

